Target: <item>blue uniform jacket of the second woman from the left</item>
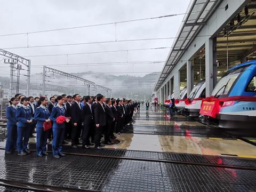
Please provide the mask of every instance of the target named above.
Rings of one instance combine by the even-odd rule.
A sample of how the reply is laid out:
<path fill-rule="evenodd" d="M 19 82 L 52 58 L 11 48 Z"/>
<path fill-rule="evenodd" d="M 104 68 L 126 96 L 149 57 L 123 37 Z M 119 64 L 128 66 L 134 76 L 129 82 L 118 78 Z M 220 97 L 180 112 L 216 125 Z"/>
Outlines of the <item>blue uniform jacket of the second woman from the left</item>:
<path fill-rule="evenodd" d="M 26 109 L 24 107 L 19 107 L 16 110 L 15 118 L 18 121 L 18 126 L 24 127 L 24 126 L 28 125 L 27 120 L 33 119 L 33 117 L 31 116 L 30 107 L 28 107 Z"/>

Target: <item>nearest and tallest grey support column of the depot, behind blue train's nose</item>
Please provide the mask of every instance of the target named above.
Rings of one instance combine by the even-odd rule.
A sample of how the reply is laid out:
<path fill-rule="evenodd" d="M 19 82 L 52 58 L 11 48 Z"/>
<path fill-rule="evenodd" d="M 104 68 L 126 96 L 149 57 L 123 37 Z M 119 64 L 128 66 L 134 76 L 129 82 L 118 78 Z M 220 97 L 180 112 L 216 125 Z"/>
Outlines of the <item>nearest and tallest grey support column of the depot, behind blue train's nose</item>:
<path fill-rule="evenodd" d="M 205 42 L 205 85 L 206 97 L 213 91 L 213 39 Z"/>

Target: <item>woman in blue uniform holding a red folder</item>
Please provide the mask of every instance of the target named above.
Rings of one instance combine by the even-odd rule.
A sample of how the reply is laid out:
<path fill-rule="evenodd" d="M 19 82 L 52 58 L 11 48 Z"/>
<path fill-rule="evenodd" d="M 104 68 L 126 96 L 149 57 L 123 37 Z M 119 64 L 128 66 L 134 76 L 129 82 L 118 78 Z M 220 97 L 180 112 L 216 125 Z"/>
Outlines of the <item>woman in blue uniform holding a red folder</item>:
<path fill-rule="evenodd" d="M 44 131 L 44 122 L 50 122 L 50 112 L 47 109 L 47 98 L 40 97 L 38 101 L 39 107 L 35 110 L 35 121 L 36 124 L 36 155 L 38 157 L 42 157 L 43 155 L 48 155 L 46 152 L 46 145 L 47 145 L 47 136 L 48 132 Z"/>

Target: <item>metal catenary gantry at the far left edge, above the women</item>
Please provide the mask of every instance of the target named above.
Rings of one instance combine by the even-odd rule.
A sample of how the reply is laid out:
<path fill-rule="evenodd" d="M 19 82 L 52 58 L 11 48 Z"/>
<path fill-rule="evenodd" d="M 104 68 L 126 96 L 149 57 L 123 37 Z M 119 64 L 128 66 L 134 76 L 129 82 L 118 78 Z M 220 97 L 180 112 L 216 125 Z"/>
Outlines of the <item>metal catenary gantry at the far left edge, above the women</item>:
<path fill-rule="evenodd" d="M 9 51 L 5 51 L 0 49 L 0 55 L 3 55 L 6 58 L 10 58 L 5 60 L 5 63 L 9 63 L 10 64 L 10 85 L 9 85 L 9 97 L 13 96 L 13 90 L 15 90 L 13 88 L 13 84 L 17 83 L 17 87 L 16 87 L 16 93 L 18 93 L 19 91 L 19 77 L 20 77 L 20 70 L 22 70 L 22 65 L 27 67 L 27 75 L 24 75 L 27 77 L 27 92 L 26 95 L 29 95 L 29 88 L 30 88 L 30 65 L 31 62 L 29 59 L 25 59 L 23 57 L 21 57 L 20 55 L 11 53 Z M 16 66 L 15 66 L 16 65 Z M 14 71 L 17 70 L 18 74 L 17 74 L 17 82 L 14 82 Z M 26 70 L 26 69 L 23 69 Z"/>

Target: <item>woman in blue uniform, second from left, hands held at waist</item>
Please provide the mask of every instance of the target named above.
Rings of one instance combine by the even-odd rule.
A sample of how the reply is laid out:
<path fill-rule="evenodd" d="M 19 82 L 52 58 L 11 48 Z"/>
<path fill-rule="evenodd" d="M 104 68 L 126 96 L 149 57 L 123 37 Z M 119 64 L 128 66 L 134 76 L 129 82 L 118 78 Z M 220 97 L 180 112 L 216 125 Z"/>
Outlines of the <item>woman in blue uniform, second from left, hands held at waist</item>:
<path fill-rule="evenodd" d="M 15 118 L 18 121 L 17 127 L 17 150 L 18 155 L 24 156 L 30 154 L 28 150 L 28 140 L 30 135 L 30 124 L 33 121 L 31 116 L 31 109 L 28 106 L 28 98 L 22 98 L 19 107 L 15 113 Z"/>

